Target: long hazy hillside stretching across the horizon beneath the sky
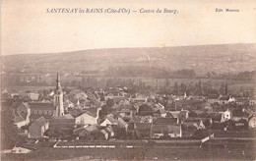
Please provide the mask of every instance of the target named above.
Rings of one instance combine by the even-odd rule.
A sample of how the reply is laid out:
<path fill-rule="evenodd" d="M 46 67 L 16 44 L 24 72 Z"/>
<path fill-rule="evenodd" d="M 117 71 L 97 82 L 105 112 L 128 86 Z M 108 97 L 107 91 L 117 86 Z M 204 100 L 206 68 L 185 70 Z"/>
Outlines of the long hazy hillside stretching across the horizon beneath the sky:
<path fill-rule="evenodd" d="M 164 48 L 95 49 L 65 53 L 2 57 L 5 72 L 50 73 L 107 70 L 109 66 L 150 66 L 234 73 L 256 69 L 256 44 L 224 44 Z"/>

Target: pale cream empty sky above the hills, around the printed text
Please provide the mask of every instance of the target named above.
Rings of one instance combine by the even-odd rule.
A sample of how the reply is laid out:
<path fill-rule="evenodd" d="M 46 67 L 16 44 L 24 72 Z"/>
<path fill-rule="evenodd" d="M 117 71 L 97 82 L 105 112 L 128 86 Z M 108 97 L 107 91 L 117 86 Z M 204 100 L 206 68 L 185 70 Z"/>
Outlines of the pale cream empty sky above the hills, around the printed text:
<path fill-rule="evenodd" d="M 19 2 L 19 3 L 18 3 Z M 130 14 L 54 14 L 52 8 L 126 8 Z M 146 14 L 140 9 L 177 10 Z M 217 8 L 239 12 L 216 12 Z M 3 0 L 1 55 L 99 48 L 256 43 L 251 0 Z"/>

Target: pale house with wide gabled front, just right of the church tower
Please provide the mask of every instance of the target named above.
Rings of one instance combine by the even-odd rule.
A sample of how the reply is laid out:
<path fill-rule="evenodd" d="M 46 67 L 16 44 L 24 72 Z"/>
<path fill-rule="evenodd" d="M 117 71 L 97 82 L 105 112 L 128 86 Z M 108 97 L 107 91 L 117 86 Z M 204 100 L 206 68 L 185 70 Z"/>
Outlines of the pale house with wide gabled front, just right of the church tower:
<path fill-rule="evenodd" d="M 82 112 L 78 116 L 75 117 L 76 125 L 94 125 L 97 124 L 96 115 L 90 112 Z"/>

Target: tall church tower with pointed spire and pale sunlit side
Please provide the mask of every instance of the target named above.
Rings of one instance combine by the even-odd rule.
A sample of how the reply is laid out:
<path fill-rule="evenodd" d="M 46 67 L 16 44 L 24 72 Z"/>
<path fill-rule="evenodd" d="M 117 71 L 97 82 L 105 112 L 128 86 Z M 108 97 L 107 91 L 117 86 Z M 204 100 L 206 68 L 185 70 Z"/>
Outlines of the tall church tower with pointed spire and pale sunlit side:
<path fill-rule="evenodd" d="M 57 73 L 57 80 L 56 80 L 56 89 L 54 94 L 54 105 L 56 107 L 56 116 L 64 115 L 63 91 L 60 86 L 60 77 L 58 73 Z"/>

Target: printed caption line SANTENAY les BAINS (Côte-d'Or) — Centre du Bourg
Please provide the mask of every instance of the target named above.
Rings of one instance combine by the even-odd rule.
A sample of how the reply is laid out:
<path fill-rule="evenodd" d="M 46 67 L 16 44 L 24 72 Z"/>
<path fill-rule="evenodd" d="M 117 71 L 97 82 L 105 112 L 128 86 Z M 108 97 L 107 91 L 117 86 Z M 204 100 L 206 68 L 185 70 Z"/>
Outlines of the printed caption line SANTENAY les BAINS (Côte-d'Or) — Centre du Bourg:
<path fill-rule="evenodd" d="M 129 8 L 47 8 L 47 14 L 177 14 L 178 10 L 158 8 L 158 9 L 129 9 Z"/>

